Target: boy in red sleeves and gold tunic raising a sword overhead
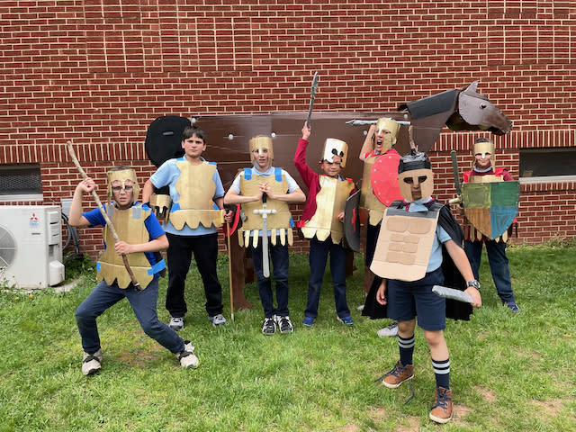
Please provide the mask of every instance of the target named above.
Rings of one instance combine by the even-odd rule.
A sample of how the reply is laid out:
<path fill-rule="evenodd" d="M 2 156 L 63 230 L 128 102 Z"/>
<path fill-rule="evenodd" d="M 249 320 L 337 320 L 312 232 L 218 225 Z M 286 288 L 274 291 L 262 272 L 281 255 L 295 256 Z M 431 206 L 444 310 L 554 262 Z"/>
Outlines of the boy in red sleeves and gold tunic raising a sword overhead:
<path fill-rule="evenodd" d="M 310 280 L 308 283 L 308 302 L 302 324 L 311 327 L 318 316 L 320 286 L 324 277 L 326 261 L 330 256 L 330 273 L 334 284 L 334 301 L 338 320 L 351 326 L 346 298 L 346 261 L 347 250 L 342 246 L 344 237 L 344 207 L 347 197 L 354 193 L 354 183 L 350 178 L 340 175 L 346 166 L 347 143 L 340 139 L 329 138 L 324 143 L 320 167 L 324 175 L 318 175 L 306 163 L 306 148 L 311 128 L 305 122 L 302 127 L 302 139 L 294 155 L 294 165 L 308 187 L 309 193 L 302 211 L 298 227 L 305 238 L 310 239 Z"/>

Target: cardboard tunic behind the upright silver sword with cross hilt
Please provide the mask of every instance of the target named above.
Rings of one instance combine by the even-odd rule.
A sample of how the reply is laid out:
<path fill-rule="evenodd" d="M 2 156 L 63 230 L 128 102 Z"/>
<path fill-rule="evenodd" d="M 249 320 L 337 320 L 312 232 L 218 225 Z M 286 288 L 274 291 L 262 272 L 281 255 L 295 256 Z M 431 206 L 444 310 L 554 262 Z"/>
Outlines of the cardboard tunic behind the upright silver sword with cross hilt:
<path fill-rule="evenodd" d="M 248 168 L 251 169 L 251 168 Z M 246 173 L 246 171 L 245 171 Z M 240 193 L 245 196 L 252 196 L 258 193 L 258 184 L 262 183 L 263 179 L 259 175 L 246 175 L 240 176 Z M 275 175 L 266 176 L 266 183 L 272 189 L 275 194 L 284 194 L 288 191 L 288 182 L 282 175 L 282 181 L 278 181 Z M 254 247 L 257 247 L 258 237 L 260 231 L 263 229 L 262 226 L 262 216 L 259 214 L 254 214 L 255 210 L 260 210 L 264 206 L 262 200 L 254 202 L 244 202 L 242 203 L 242 210 L 246 216 L 246 220 L 242 222 L 242 228 L 238 229 L 238 244 L 241 247 L 248 247 L 250 243 L 250 234 L 253 236 Z M 290 210 L 288 208 L 288 202 L 273 200 L 270 197 L 266 200 L 266 208 L 268 210 L 275 210 L 274 214 L 267 215 L 267 229 L 271 231 L 270 242 L 273 246 L 276 245 L 277 238 L 280 238 L 280 243 L 284 246 L 286 240 L 288 244 L 292 246 L 293 244 L 293 231 L 291 227 Z M 263 233 L 266 235 L 266 233 Z"/>

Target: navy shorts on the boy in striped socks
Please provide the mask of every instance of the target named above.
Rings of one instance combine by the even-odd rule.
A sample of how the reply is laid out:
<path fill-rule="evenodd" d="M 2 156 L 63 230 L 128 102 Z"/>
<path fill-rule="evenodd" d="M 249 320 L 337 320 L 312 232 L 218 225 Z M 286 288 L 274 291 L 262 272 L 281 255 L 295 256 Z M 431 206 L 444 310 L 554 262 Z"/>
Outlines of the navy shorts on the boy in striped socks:
<path fill-rule="evenodd" d="M 419 281 L 389 280 L 388 317 L 397 321 L 410 321 L 418 316 L 420 328 L 428 331 L 446 329 L 446 300 L 432 293 L 434 285 L 444 284 L 439 267 Z"/>

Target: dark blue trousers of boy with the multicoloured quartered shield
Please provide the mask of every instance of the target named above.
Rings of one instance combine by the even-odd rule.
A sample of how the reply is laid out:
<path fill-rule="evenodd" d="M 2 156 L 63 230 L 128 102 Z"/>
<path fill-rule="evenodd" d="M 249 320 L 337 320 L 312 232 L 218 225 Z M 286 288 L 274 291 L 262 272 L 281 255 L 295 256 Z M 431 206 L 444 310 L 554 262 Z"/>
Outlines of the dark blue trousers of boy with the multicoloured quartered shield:
<path fill-rule="evenodd" d="M 482 244 L 486 244 L 486 254 L 490 263 L 492 280 L 496 285 L 496 291 L 502 302 L 514 302 L 514 292 L 512 291 L 512 282 L 510 280 L 510 271 L 508 266 L 508 257 L 506 257 L 506 243 L 496 242 L 494 240 L 485 241 L 464 241 L 464 251 L 472 266 L 474 277 L 478 279 L 478 269 L 480 268 L 480 259 L 482 257 Z"/>

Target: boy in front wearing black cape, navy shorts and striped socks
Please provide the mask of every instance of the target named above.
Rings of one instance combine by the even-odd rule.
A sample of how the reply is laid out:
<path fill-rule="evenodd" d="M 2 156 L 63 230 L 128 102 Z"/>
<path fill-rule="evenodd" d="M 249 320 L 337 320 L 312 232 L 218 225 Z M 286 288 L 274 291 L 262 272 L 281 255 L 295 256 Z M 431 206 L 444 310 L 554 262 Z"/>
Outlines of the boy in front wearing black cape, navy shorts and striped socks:
<path fill-rule="evenodd" d="M 446 300 L 432 293 L 445 282 L 443 247 L 464 276 L 465 293 L 480 307 L 480 284 L 460 246 L 462 229 L 446 205 L 432 198 L 434 175 L 428 156 L 412 153 L 401 157 L 398 181 L 404 201 L 392 202 L 382 221 L 372 270 L 384 278 L 376 300 L 387 304 L 388 315 L 398 321 L 400 360 L 383 376 L 383 385 L 396 389 L 414 376 L 412 354 L 416 316 L 424 330 L 436 376 L 436 400 L 430 419 L 447 423 L 452 419 L 450 360 L 443 330 Z M 446 261 L 446 259 L 445 259 Z M 461 303 L 464 305 L 464 303 Z M 469 306 L 468 306 L 469 307 Z"/>

